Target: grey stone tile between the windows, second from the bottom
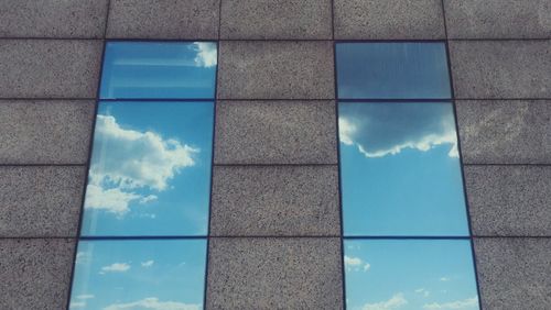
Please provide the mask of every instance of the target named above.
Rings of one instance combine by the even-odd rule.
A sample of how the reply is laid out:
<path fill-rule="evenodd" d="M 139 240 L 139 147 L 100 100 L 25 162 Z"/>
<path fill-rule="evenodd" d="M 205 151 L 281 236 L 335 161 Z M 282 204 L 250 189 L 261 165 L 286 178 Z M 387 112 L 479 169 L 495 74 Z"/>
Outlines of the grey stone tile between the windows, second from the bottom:
<path fill-rule="evenodd" d="M 212 235 L 338 235 L 338 167 L 215 166 Z"/>

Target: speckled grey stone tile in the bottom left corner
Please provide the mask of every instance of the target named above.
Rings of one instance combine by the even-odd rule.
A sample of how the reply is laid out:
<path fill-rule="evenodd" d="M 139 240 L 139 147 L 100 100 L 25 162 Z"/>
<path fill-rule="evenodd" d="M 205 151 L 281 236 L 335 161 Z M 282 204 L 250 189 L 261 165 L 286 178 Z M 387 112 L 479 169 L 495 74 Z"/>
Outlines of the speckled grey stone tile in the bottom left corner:
<path fill-rule="evenodd" d="M 65 309 L 74 242 L 0 239 L 0 309 Z"/>

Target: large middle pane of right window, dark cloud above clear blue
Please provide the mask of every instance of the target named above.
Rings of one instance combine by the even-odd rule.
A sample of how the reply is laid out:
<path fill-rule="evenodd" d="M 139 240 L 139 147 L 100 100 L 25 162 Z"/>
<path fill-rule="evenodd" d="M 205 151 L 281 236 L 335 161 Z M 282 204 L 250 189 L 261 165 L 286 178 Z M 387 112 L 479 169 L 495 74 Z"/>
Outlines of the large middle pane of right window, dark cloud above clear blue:
<path fill-rule="evenodd" d="M 345 235 L 468 235 L 452 103 L 338 107 Z"/>

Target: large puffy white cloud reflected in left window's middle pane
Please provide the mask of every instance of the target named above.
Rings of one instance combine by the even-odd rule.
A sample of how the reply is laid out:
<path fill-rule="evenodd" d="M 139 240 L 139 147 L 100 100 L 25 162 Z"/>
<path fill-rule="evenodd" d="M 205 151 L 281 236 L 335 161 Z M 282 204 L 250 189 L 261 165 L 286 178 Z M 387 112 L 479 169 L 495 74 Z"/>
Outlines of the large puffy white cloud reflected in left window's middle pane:
<path fill-rule="evenodd" d="M 193 157 L 199 152 L 151 131 L 123 129 L 115 117 L 101 114 L 97 115 L 94 146 L 85 206 L 118 217 L 130 211 L 134 201 L 155 201 L 155 195 L 137 190 L 168 189 L 182 168 L 195 165 Z"/>

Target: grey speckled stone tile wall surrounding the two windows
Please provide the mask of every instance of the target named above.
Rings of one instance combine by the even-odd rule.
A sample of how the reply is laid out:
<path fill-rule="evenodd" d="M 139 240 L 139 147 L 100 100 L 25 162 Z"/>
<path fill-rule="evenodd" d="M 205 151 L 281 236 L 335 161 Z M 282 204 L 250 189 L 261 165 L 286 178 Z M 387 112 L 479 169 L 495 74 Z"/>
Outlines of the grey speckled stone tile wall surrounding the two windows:
<path fill-rule="evenodd" d="M 0 1 L 0 309 L 66 306 L 108 38 L 220 40 L 207 309 L 343 308 L 333 40 L 447 41 L 483 306 L 551 309 L 549 0 Z"/>

